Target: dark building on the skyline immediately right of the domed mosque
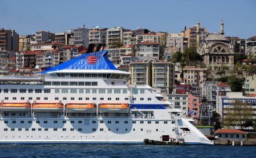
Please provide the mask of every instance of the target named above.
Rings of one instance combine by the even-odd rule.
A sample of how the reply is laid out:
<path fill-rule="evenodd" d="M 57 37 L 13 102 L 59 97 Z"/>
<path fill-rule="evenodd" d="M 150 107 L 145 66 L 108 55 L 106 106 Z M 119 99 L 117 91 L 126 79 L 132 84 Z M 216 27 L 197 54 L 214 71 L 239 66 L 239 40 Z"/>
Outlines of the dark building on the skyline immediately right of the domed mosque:
<path fill-rule="evenodd" d="M 246 48 L 246 44 L 245 44 L 245 39 L 241 39 L 239 37 L 226 37 L 226 40 L 228 42 L 232 42 L 232 44 L 234 44 L 233 47 L 233 52 L 234 54 L 245 54 L 245 48 Z"/>

